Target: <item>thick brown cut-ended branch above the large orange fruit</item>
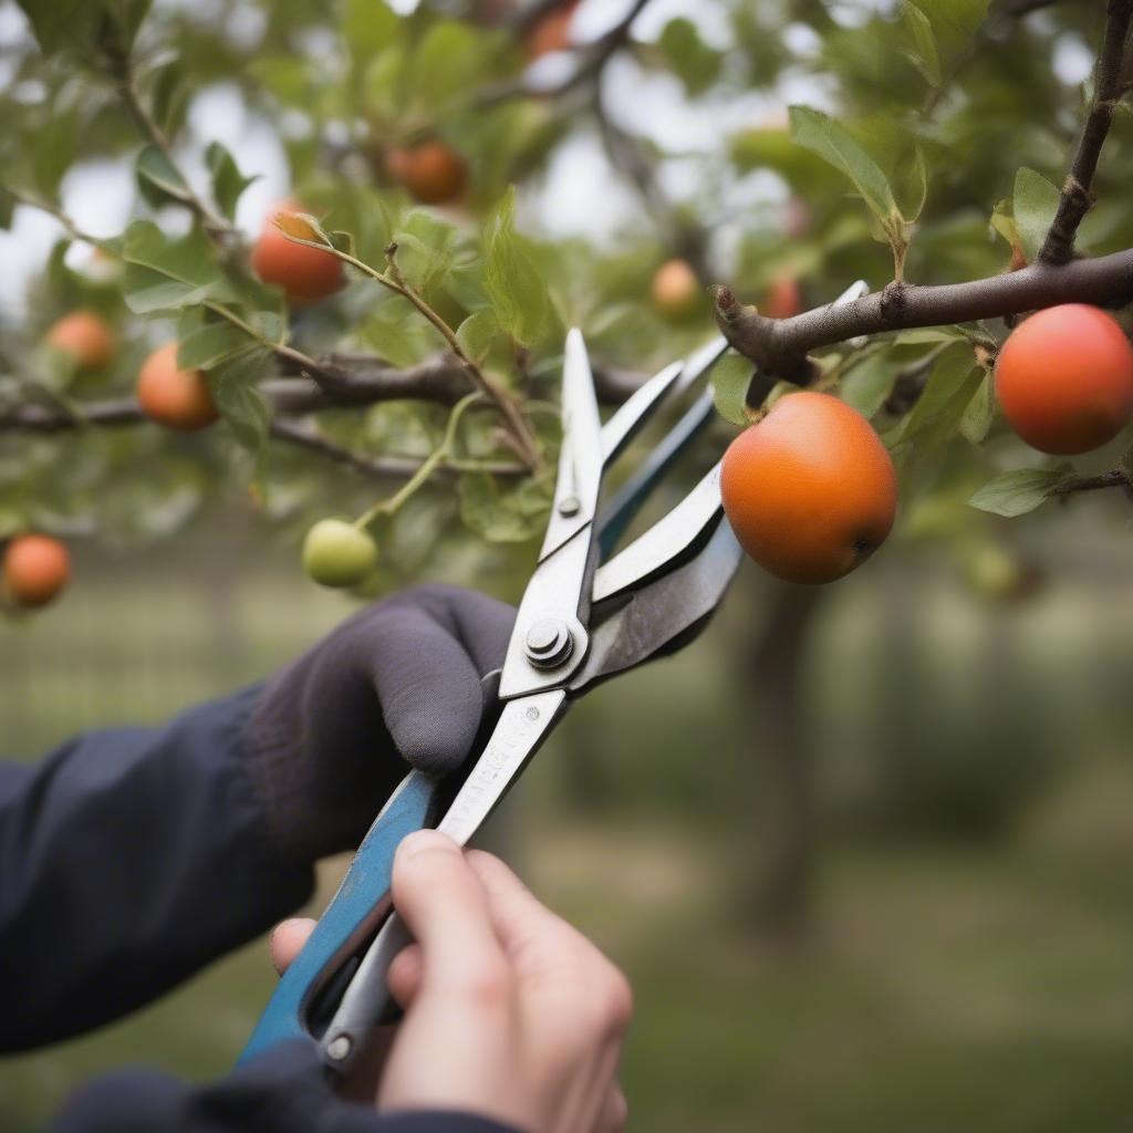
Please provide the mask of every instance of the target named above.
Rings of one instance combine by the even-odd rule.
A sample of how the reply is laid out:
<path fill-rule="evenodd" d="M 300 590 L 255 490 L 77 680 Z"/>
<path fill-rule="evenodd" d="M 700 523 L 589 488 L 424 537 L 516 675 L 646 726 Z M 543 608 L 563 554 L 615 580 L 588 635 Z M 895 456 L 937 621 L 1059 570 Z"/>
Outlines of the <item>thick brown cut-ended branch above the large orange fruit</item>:
<path fill-rule="evenodd" d="M 714 293 L 716 322 L 734 349 L 768 374 L 790 378 L 806 376 L 811 350 L 858 335 L 997 318 L 1062 303 L 1128 303 L 1133 300 L 1133 248 L 1062 266 L 1036 263 L 970 283 L 889 287 L 794 318 L 766 318 L 742 306 L 727 288 L 717 287 Z"/>

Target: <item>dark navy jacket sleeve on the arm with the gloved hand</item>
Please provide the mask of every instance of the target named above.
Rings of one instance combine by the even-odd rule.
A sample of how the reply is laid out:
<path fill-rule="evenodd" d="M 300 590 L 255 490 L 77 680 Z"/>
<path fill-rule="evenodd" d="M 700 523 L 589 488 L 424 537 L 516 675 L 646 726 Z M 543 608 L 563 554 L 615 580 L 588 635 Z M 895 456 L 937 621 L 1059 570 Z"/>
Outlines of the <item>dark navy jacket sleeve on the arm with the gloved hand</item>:
<path fill-rule="evenodd" d="M 0 765 L 0 1051 L 133 1011 L 309 895 L 244 750 L 257 691 Z"/>

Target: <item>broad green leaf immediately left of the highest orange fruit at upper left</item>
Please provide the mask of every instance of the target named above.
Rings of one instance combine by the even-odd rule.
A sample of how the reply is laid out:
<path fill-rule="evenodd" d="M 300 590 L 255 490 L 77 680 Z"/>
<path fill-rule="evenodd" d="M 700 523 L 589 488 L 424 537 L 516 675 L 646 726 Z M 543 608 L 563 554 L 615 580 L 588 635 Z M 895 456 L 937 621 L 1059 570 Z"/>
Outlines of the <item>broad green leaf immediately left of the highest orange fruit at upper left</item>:
<path fill-rule="evenodd" d="M 126 230 L 122 258 L 126 303 L 136 315 L 236 298 L 212 245 L 196 229 L 169 240 L 152 221 L 137 220 Z"/>

